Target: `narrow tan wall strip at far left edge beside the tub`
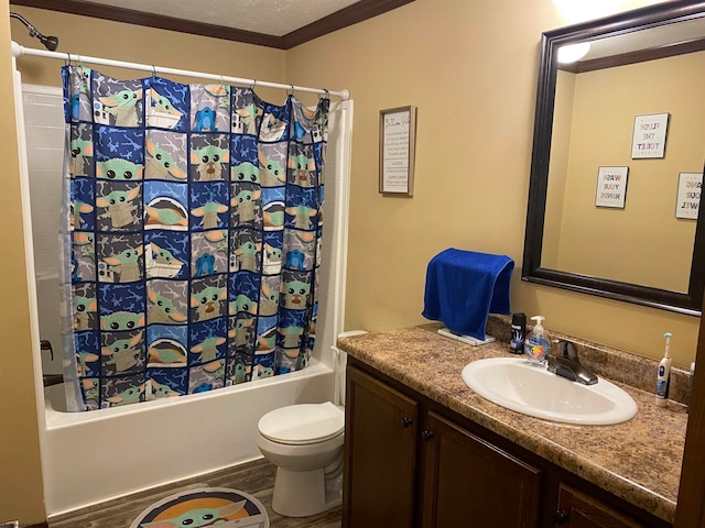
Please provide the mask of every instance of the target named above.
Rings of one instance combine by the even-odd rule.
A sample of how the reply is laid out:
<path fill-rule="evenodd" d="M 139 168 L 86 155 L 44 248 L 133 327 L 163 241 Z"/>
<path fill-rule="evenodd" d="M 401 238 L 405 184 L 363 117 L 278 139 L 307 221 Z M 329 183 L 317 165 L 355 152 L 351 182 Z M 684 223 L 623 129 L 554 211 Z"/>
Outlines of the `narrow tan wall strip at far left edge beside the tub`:
<path fill-rule="evenodd" d="M 0 46 L 9 50 L 8 2 L 0 10 Z M 0 248 L 0 521 L 44 520 L 42 472 L 34 398 L 30 315 L 24 271 L 24 234 L 20 201 L 20 166 L 12 97 L 12 63 L 0 57 L 0 144 L 3 198 Z"/>

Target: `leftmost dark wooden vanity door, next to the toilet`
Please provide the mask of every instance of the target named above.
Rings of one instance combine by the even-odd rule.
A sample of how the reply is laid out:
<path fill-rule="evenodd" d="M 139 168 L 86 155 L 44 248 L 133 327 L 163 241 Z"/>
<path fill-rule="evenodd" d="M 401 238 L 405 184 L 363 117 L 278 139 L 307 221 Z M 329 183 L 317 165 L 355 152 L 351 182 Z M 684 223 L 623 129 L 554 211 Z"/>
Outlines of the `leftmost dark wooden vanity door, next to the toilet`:
<path fill-rule="evenodd" d="M 419 404 L 348 367 L 344 528 L 411 528 Z"/>

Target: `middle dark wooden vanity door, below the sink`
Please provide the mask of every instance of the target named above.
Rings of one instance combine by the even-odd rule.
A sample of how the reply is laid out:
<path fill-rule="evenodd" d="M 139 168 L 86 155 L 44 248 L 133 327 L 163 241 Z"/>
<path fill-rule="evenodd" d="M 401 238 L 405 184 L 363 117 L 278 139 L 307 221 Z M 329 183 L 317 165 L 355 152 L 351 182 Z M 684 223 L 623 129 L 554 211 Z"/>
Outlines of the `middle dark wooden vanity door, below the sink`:
<path fill-rule="evenodd" d="M 429 413 L 424 453 L 424 528 L 535 528 L 541 472 Z"/>

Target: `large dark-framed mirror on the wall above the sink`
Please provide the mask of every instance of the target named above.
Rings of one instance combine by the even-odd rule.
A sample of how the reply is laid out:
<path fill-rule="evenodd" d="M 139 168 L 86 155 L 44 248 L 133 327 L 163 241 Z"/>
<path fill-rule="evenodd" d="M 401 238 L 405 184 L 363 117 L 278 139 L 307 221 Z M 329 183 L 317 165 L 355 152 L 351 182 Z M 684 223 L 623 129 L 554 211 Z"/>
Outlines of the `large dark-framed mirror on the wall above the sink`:
<path fill-rule="evenodd" d="M 558 64 L 558 50 L 587 42 Z M 543 33 L 523 280 L 701 315 L 705 98 L 693 73 L 705 76 L 705 2 Z"/>

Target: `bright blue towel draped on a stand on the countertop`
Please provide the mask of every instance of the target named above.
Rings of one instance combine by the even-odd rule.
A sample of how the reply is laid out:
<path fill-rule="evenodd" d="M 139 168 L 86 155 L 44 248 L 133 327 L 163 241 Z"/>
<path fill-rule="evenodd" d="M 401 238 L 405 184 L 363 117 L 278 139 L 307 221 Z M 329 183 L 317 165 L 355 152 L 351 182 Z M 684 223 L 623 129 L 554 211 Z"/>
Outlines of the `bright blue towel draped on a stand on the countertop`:
<path fill-rule="evenodd" d="M 514 261 L 451 248 L 429 263 L 422 316 L 455 333 L 485 339 L 487 316 L 511 314 L 509 280 Z"/>

